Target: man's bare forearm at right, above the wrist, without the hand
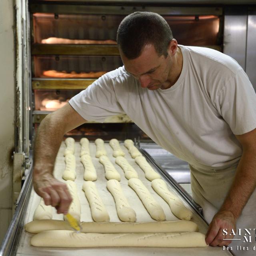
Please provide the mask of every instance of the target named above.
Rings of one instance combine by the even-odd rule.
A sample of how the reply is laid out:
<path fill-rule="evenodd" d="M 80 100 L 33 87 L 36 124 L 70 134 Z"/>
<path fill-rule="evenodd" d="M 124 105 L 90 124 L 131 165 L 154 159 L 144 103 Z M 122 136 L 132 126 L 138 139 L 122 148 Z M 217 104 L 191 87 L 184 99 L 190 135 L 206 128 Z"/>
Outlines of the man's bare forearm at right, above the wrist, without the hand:
<path fill-rule="evenodd" d="M 254 148 L 243 151 L 234 182 L 219 211 L 228 210 L 237 219 L 256 188 L 256 152 Z"/>

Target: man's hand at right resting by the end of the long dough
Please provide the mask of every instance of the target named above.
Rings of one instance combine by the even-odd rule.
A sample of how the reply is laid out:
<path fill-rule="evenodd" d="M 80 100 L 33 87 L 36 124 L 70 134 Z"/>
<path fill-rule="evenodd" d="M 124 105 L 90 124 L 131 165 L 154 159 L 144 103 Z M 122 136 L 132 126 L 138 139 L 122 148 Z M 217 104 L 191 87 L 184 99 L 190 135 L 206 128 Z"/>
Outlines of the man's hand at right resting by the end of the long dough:
<path fill-rule="evenodd" d="M 223 229 L 227 231 L 227 235 L 225 235 Z M 232 239 L 234 237 L 230 235 L 232 229 L 236 232 L 236 218 L 232 212 L 228 210 L 217 212 L 209 225 L 205 239 L 206 244 L 211 246 L 227 246 L 232 240 L 223 239 Z"/>

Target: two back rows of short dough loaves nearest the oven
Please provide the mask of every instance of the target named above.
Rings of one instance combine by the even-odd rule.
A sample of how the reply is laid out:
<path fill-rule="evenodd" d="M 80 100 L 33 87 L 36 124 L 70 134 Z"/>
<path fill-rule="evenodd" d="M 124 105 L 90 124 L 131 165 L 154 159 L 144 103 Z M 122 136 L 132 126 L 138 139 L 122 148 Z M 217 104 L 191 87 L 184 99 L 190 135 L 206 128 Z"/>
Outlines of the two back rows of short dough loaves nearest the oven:
<path fill-rule="evenodd" d="M 64 151 L 66 168 L 62 175 L 64 180 L 75 180 L 76 178 L 76 159 L 74 156 L 75 150 L 75 141 L 73 138 L 69 137 L 65 140 L 66 149 Z M 80 140 L 81 144 L 81 162 L 84 165 L 84 179 L 94 181 L 97 179 L 96 170 L 90 158 L 90 149 L 89 149 L 89 140 L 87 138 L 82 138 Z M 120 181 L 120 174 L 117 172 L 116 168 L 110 162 L 107 157 L 107 152 L 104 147 L 104 140 L 98 138 L 95 140 L 95 144 L 97 147 L 96 157 L 99 158 L 100 162 L 104 165 L 105 176 L 108 180 L 116 179 Z M 124 170 L 125 177 L 127 179 L 130 178 L 138 178 L 138 174 L 132 166 L 128 163 L 128 161 L 124 158 L 124 152 L 120 148 L 120 144 L 118 140 L 112 139 L 109 142 L 110 146 L 113 148 L 113 156 L 116 157 L 116 164 L 121 166 Z M 145 172 L 145 177 L 152 181 L 154 179 L 160 178 L 160 174 L 154 171 L 154 169 L 148 164 L 146 158 L 142 156 L 142 154 L 138 151 L 138 149 L 134 146 L 134 142 L 132 140 L 125 140 L 124 145 L 128 148 L 131 156 L 135 158 L 135 162 L 140 166 L 140 168 Z"/>

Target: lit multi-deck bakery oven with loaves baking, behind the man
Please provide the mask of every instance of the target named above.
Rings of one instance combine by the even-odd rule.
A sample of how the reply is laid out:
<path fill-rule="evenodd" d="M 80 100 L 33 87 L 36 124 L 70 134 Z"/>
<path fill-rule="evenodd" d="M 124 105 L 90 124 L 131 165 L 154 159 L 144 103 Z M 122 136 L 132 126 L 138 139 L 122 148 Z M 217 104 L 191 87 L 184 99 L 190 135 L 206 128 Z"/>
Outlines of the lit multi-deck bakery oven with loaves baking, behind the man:
<path fill-rule="evenodd" d="M 134 11 L 157 12 L 178 44 L 209 47 L 232 56 L 256 86 L 254 1 L 16 1 L 16 99 L 13 174 L 14 217 L 0 255 L 15 252 L 30 191 L 36 129 L 50 112 L 67 104 L 108 71 L 122 66 L 116 45 L 121 20 Z M 239 43 L 237 43 L 239 42 Z M 88 122 L 66 134 L 76 142 L 102 138 L 150 138 L 125 114 Z M 149 156 L 150 157 L 150 156 Z M 22 184 L 24 183 L 24 186 Z M 22 191 L 21 191 L 22 189 Z M 182 194 L 182 192 L 179 192 Z"/>

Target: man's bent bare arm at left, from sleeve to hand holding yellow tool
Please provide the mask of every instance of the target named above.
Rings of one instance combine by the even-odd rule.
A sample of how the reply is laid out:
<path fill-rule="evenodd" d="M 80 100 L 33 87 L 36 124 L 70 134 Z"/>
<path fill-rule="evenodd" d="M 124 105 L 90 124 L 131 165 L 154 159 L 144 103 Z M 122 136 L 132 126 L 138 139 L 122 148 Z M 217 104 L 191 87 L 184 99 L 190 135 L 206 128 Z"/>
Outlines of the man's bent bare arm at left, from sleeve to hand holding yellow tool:
<path fill-rule="evenodd" d="M 41 122 L 34 146 L 33 185 L 36 193 L 44 198 L 46 205 L 66 214 L 72 198 L 66 184 L 53 176 L 54 162 L 66 132 L 85 123 L 67 103 L 62 108 L 47 115 Z"/>

